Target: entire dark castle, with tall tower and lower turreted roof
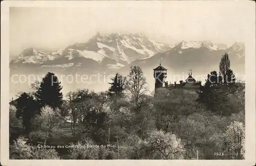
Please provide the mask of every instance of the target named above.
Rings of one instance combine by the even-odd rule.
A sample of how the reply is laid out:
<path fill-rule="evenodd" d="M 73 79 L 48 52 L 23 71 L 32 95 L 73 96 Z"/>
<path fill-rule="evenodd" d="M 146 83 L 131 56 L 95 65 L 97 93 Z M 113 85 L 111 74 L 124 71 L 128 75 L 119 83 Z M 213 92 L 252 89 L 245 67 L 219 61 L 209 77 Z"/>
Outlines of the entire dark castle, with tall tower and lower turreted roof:
<path fill-rule="evenodd" d="M 192 76 L 192 70 L 188 71 L 188 76 L 185 81 L 180 80 L 180 84 L 177 84 L 176 81 L 174 81 L 174 84 L 168 84 L 168 81 L 166 80 L 167 77 L 167 69 L 165 69 L 163 66 L 161 66 L 161 63 L 158 67 L 156 67 L 154 70 L 154 78 L 155 78 L 155 89 L 157 88 L 166 88 L 169 90 L 172 89 L 185 89 L 188 91 L 199 91 L 201 87 L 201 81 L 197 81 Z"/>

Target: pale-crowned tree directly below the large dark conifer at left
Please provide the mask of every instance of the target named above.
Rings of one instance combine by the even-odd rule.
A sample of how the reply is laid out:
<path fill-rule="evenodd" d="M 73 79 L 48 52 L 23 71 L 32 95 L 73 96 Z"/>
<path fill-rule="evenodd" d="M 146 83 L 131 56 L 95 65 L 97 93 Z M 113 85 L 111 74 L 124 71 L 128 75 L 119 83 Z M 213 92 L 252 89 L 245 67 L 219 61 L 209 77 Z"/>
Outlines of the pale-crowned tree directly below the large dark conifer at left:
<path fill-rule="evenodd" d="M 30 133 L 32 140 L 44 139 L 46 144 L 49 135 L 57 133 L 59 126 L 63 123 L 63 117 L 60 115 L 60 110 L 45 106 L 41 109 L 41 114 L 33 119 L 34 132 Z"/>

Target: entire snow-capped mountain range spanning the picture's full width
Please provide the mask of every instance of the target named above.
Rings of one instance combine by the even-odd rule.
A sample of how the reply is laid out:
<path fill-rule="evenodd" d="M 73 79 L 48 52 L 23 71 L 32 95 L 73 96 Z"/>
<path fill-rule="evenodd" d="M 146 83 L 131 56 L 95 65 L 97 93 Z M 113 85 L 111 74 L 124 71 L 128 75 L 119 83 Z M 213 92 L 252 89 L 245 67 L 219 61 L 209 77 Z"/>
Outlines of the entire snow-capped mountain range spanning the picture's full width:
<path fill-rule="evenodd" d="M 13 58 L 9 65 L 10 75 L 44 75 L 48 71 L 56 74 L 88 75 L 119 72 L 126 75 L 130 66 L 139 65 L 145 75 L 148 75 L 147 81 L 151 82 L 154 81 L 153 68 L 157 67 L 160 61 L 168 70 L 168 76 L 184 73 L 186 76 L 189 69 L 195 74 L 207 74 L 212 70 L 218 71 L 220 59 L 225 52 L 229 54 L 234 72 L 245 73 L 244 43 L 236 42 L 231 47 L 211 41 L 181 41 L 177 44 L 166 44 L 139 33 L 97 33 L 87 42 L 75 43 L 55 51 L 28 48 Z M 92 84 L 88 85 L 92 86 Z M 105 85 L 108 87 L 108 84 Z M 102 87 L 98 85 L 96 89 L 101 90 Z"/>

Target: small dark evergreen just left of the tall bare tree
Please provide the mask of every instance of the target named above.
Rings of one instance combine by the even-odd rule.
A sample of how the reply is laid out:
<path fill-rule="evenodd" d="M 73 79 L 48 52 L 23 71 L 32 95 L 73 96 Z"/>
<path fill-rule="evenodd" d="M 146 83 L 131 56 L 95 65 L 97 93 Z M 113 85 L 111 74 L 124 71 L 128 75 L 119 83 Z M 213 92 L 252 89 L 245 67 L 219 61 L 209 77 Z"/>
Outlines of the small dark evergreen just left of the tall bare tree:
<path fill-rule="evenodd" d="M 123 77 L 119 73 L 116 73 L 116 76 L 111 78 L 112 82 L 109 83 L 111 87 L 109 88 L 109 95 L 110 96 L 123 96 L 124 92 L 124 85 L 126 77 Z"/>

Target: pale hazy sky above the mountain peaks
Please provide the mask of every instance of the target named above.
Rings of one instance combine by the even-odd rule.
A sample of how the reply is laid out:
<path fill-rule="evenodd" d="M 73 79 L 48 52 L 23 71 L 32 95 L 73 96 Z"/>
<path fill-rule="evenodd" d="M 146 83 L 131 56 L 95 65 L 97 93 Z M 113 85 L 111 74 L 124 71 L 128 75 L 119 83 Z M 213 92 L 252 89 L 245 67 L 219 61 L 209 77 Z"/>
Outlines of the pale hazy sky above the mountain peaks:
<path fill-rule="evenodd" d="M 93 4 L 93 3 L 92 3 Z M 100 33 L 144 33 L 161 42 L 244 42 L 246 6 L 239 2 L 115 3 L 83 7 L 10 8 L 10 54 L 28 47 L 65 48 Z"/>

